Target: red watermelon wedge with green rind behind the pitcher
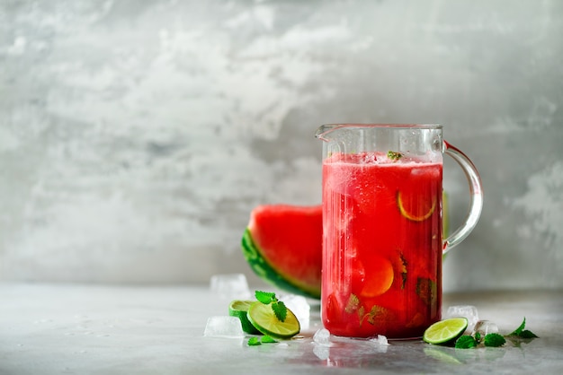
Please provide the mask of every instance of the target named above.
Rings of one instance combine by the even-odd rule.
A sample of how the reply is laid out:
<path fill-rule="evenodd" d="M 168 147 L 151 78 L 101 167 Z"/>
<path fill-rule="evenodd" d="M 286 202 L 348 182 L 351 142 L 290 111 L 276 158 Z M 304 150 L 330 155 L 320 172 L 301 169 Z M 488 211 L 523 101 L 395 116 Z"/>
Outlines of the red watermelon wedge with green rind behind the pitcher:
<path fill-rule="evenodd" d="M 242 239 L 255 274 L 287 292 L 320 298 L 322 206 L 259 205 Z"/>

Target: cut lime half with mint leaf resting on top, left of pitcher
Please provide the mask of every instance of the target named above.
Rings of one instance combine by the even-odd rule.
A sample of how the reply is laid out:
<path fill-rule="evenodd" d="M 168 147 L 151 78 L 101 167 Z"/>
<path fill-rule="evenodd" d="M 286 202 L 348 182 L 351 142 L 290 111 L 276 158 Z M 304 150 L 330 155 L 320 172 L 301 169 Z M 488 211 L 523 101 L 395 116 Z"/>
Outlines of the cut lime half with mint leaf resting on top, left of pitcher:
<path fill-rule="evenodd" d="M 272 337 L 290 338 L 299 334 L 301 329 L 299 320 L 291 310 L 288 309 L 285 320 L 281 321 L 273 313 L 272 306 L 262 302 L 254 302 L 250 305 L 247 316 L 256 329 Z"/>

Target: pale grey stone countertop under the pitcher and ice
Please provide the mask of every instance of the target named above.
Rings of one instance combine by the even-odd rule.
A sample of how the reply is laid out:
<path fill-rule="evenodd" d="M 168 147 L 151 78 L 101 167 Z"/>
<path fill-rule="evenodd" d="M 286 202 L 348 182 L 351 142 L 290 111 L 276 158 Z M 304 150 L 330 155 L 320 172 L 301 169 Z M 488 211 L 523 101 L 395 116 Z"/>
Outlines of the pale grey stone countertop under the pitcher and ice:
<path fill-rule="evenodd" d="M 519 347 L 454 349 L 421 340 L 335 338 L 314 344 L 308 327 L 282 344 L 204 337 L 207 318 L 228 301 L 203 286 L 0 283 L 0 374 L 315 374 L 563 372 L 563 292 L 483 292 L 444 296 L 469 304 L 501 333 L 527 325 L 540 338 Z"/>

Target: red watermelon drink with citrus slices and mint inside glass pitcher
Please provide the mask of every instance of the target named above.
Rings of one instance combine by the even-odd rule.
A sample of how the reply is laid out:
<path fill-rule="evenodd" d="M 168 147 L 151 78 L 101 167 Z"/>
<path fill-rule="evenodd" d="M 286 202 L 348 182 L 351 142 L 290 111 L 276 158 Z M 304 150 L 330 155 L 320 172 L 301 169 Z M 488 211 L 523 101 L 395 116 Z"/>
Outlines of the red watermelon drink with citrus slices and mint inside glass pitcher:
<path fill-rule="evenodd" d="M 441 318 L 442 158 L 323 162 L 322 316 L 337 336 L 422 336 Z"/>

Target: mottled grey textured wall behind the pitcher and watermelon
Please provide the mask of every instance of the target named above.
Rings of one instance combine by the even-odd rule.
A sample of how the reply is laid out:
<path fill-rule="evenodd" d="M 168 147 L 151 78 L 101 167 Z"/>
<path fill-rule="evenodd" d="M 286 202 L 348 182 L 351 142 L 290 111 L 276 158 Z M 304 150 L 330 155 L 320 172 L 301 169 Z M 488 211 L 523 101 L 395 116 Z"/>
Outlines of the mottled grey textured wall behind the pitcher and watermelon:
<path fill-rule="evenodd" d="M 0 279 L 256 283 L 248 214 L 320 202 L 317 126 L 408 122 L 485 187 L 444 290 L 561 288 L 562 35 L 557 0 L 0 0 Z"/>

